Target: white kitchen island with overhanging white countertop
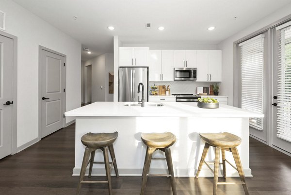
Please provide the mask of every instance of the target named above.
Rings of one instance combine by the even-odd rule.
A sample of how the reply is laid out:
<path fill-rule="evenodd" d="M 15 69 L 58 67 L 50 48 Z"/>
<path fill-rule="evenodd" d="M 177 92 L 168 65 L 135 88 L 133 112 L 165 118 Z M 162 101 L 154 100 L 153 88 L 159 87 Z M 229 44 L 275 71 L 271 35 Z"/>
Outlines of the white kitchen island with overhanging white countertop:
<path fill-rule="evenodd" d="M 96 102 L 65 113 L 76 117 L 75 168 L 73 176 L 79 176 L 85 146 L 81 136 L 88 133 L 114 132 L 119 136 L 114 142 L 114 151 L 120 176 L 141 176 L 146 146 L 141 141 L 142 132 L 169 131 L 176 135 L 177 142 L 171 146 L 172 160 L 176 177 L 194 177 L 201 158 L 204 142 L 199 133 L 229 132 L 242 138 L 238 147 L 242 167 L 246 177 L 251 176 L 249 168 L 249 118 L 263 117 L 263 114 L 249 112 L 240 108 L 220 105 L 218 109 L 203 109 L 197 103 L 162 103 L 163 106 L 124 106 L 125 102 Z M 155 157 L 164 155 L 160 151 Z M 102 152 L 97 151 L 95 158 L 103 161 Z M 214 159 L 213 149 L 206 161 Z M 226 159 L 234 163 L 231 153 Z M 227 163 L 226 163 L 227 164 Z M 113 170 L 112 170 L 113 171 Z M 152 160 L 150 173 L 167 173 L 165 160 Z M 112 172 L 113 173 L 113 172 Z M 94 164 L 92 175 L 105 175 L 104 164 Z M 220 173 L 221 175 L 221 173 Z M 227 176 L 238 176 L 228 164 Z M 199 177 L 213 177 L 203 167 Z"/>

